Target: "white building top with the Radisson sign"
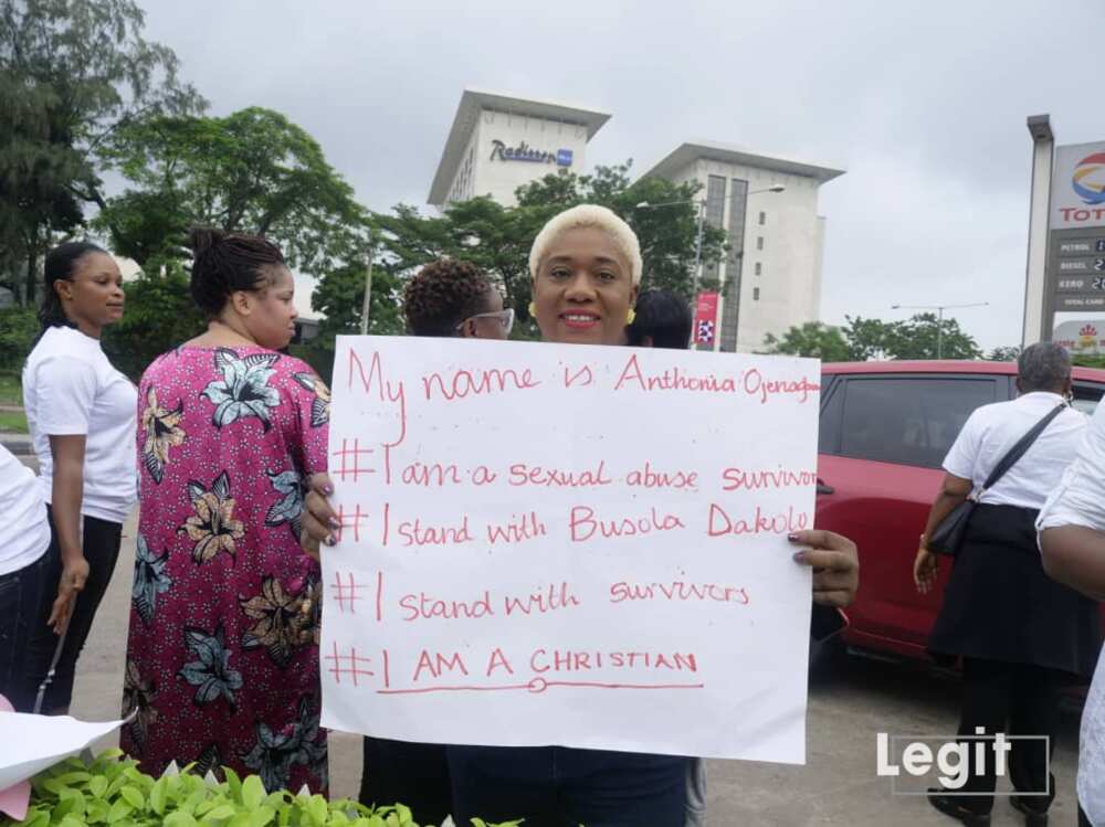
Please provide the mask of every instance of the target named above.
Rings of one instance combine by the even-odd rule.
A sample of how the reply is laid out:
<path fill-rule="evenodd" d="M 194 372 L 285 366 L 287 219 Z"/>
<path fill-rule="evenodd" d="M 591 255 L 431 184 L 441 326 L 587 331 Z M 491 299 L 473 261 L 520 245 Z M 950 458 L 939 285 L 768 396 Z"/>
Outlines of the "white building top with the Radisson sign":
<path fill-rule="evenodd" d="M 523 184 L 559 170 L 582 172 L 587 142 L 609 119 L 577 106 L 465 89 L 428 201 L 444 206 L 491 195 L 513 206 Z"/>

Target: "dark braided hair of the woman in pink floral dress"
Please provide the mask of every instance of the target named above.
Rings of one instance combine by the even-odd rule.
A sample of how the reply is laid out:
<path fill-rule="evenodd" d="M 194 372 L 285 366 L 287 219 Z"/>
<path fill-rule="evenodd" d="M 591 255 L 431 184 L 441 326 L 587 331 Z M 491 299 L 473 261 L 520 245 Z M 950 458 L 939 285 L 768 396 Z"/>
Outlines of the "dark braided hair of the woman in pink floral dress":
<path fill-rule="evenodd" d="M 192 299 L 209 319 L 222 312 L 231 294 L 260 290 L 271 283 L 266 272 L 284 265 L 280 247 L 260 235 L 236 235 L 213 227 L 191 232 Z"/>

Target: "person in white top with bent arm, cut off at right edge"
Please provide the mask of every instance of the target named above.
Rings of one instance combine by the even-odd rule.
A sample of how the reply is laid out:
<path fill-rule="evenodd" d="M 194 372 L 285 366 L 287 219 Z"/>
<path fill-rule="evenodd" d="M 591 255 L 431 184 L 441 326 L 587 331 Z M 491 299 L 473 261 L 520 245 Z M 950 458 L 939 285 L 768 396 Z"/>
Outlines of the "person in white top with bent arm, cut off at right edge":
<path fill-rule="evenodd" d="M 1036 528 L 1048 575 L 1096 601 L 1105 600 L 1105 404 L 1097 405 L 1078 447 Z M 1105 827 L 1105 657 L 1082 711 L 1078 756 L 1081 825 Z"/>

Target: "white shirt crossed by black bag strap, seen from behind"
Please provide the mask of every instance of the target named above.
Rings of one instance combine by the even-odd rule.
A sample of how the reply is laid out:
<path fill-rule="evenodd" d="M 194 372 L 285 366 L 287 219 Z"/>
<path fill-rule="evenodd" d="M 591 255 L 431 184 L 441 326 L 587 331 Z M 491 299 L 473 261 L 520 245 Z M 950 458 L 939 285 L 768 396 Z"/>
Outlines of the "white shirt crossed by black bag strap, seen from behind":
<path fill-rule="evenodd" d="M 1040 392 L 982 405 L 956 437 L 944 459 L 944 470 L 971 480 L 977 492 L 1001 457 L 1062 401 L 1057 393 Z M 1041 508 L 1073 462 L 1085 430 L 1085 414 L 1071 407 L 1064 410 L 979 502 Z"/>

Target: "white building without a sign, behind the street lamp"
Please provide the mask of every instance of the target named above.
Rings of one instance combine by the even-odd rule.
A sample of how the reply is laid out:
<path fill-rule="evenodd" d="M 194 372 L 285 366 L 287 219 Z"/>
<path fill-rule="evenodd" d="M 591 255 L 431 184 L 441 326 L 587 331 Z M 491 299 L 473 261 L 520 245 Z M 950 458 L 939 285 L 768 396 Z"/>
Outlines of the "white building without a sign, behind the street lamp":
<path fill-rule="evenodd" d="M 698 181 L 706 221 L 726 232 L 729 253 L 703 269 L 722 284 L 720 350 L 759 350 L 768 333 L 821 316 L 825 219 L 818 190 L 844 170 L 780 156 L 695 141 L 645 176 Z M 770 188 L 781 185 L 782 192 Z"/>

